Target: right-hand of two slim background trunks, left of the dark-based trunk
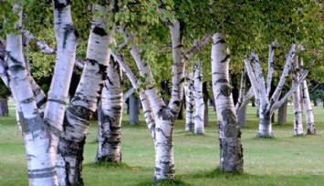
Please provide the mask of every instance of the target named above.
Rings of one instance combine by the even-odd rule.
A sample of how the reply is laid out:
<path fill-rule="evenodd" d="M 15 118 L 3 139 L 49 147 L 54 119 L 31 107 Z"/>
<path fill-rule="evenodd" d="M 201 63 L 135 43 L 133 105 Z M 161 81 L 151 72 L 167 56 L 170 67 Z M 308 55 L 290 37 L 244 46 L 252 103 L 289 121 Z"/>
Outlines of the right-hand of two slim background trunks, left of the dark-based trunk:
<path fill-rule="evenodd" d="M 204 98 L 201 74 L 202 64 L 194 66 L 193 97 L 195 103 L 194 134 L 204 135 Z"/>

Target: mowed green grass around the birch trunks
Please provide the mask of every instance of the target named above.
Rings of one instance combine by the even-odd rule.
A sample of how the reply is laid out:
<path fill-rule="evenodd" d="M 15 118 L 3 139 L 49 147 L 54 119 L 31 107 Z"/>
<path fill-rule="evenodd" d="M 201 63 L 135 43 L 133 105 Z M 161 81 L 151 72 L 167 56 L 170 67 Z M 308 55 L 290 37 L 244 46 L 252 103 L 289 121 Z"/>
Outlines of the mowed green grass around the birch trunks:
<path fill-rule="evenodd" d="M 10 107 L 10 117 L 0 118 L 0 185 L 28 185 L 23 140 L 16 127 L 14 106 Z M 216 171 L 219 143 L 213 109 L 209 110 L 210 123 L 204 136 L 184 132 L 184 120 L 177 120 L 173 138 L 176 181 L 159 185 L 324 185 L 324 109 L 313 109 L 318 135 L 294 137 L 289 106 L 287 124 L 274 122 L 275 139 L 256 139 L 256 108 L 248 107 L 247 126 L 241 129 L 245 160 L 241 175 Z M 84 152 L 85 185 L 152 185 L 151 134 L 142 116 L 137 127 L 129 127 L 127 119 L 124 115 L 121 165 L 94 164 L 97 125 L 91 122 Z"/>

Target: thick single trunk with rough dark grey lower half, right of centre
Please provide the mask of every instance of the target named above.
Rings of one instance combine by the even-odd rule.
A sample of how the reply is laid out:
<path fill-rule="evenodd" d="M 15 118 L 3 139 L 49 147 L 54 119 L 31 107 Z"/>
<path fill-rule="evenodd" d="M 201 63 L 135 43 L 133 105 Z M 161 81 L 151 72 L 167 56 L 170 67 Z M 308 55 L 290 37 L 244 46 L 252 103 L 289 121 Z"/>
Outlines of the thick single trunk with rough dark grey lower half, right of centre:
<path fill-rule="evenodd" d="M 241 131 L 237 123 L 229 85 L 228 49 L 221 34 L 214 34 L 212 46 L 213 92 L 217 112 L 221 171 L 243 172 Z"/>

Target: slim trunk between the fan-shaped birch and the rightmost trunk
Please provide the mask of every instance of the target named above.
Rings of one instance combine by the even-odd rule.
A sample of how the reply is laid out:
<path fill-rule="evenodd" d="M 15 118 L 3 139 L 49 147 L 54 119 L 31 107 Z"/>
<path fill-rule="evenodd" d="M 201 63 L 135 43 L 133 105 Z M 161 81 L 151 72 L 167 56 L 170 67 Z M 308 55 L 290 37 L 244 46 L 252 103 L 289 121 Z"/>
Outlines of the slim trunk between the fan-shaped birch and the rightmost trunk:
<path fill-rule="evenodd" d="M 298 83 L 299 78 L 299 65 L 298 65 L 298 57 L 293 59 L 293 64 L 291 66 L 291 78 L 292 78 L 292 85 Z M 294 103 L 294 134 L 295 136 L 302 136 L 304 129 L 303 129 L 303 121 L 302 121 L 302 111 L 300 106 L 300 88 L 295 89 L 293 93 L 293 103 Z"/>

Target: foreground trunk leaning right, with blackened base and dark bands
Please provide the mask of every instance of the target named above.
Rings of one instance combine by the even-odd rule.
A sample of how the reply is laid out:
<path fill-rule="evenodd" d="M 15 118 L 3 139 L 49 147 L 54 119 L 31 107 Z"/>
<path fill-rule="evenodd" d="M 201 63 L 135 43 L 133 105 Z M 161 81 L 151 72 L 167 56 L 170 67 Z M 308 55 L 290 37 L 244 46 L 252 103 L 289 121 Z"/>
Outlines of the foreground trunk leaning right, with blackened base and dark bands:
<path fill-rule="evenodd" d="M 93 5 L 93 11 L 109 12 L 109 9 L 107 6 Z M 64 132 L 59 141 L 57 154 L 60 185 L 83 185 L 81 177 L 83 147 L 89 119 L 97 109 L 110 61 L 108 45 L 112 42 L 112 33 L 105 31 L 108 16 L 106 14 L 94 16 L 87 47 L 87 62 L 77 91 L 66 111 Z"/>

